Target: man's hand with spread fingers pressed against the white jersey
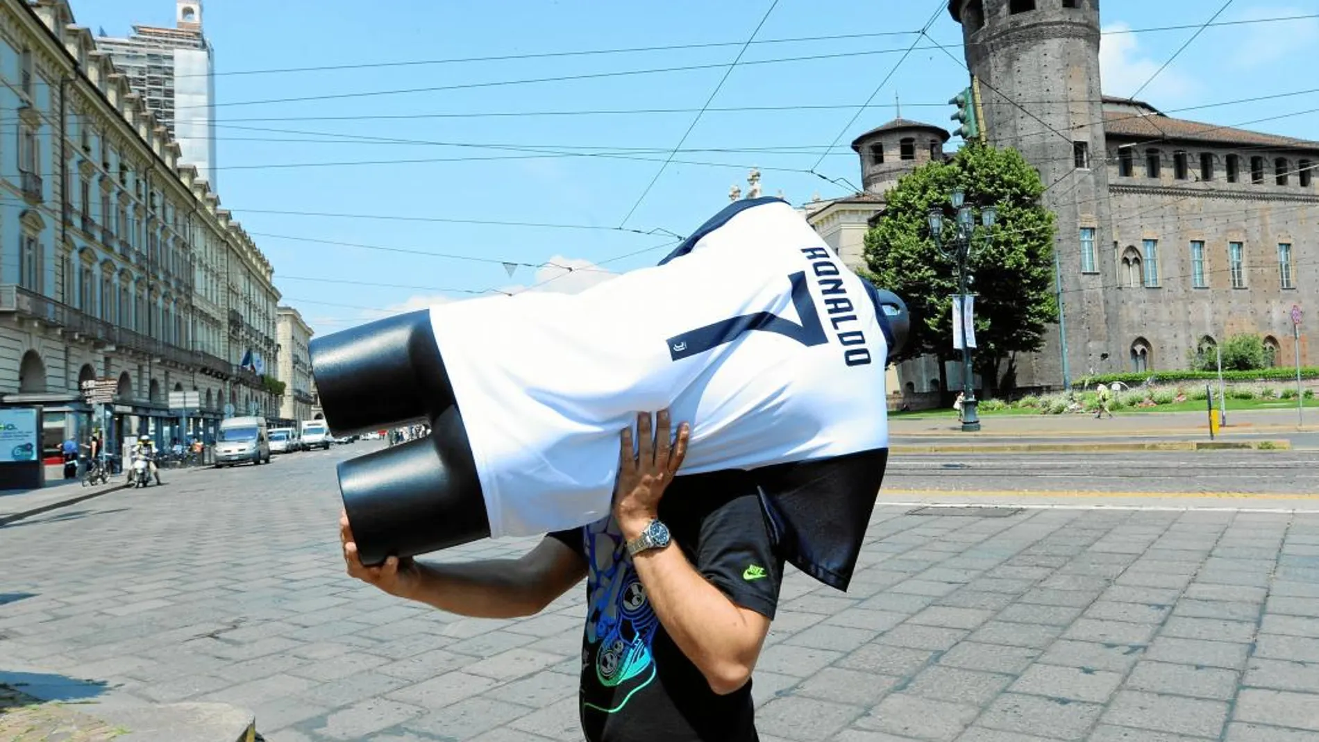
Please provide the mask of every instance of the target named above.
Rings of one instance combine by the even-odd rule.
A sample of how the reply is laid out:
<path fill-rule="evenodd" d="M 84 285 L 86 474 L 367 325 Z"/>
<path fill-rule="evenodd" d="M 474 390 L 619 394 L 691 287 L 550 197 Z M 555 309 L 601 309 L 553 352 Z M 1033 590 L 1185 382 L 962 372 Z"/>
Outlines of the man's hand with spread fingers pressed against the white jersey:
<path fill-rule="evenodd" d="M 687 455 L 687 423 L 678 426 L 678 440 L 670 443 L 669 410 L 656 415 L 652 438 L 650 413 L 637 415 L 640 451 L 633 449 L 632 427 L 623 428 L 619 444 L 619 485 L 613 502 L 613 518 L 623 538 L 632 540 L 641 535 L 660 513 L 660 498 L 673 481 Z"/>

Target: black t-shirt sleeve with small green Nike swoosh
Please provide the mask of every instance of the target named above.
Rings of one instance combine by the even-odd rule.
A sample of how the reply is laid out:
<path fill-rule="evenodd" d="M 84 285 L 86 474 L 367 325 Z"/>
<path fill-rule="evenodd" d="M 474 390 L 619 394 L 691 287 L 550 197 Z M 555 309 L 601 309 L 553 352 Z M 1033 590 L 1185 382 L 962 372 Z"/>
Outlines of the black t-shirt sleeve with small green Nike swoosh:
<path fill-rule="evenodd" d="M 695 568 L 728 600 L 773 619 L 783 560 L 777 556 L 760 497 L 721 502 L 700 521 Z"/>

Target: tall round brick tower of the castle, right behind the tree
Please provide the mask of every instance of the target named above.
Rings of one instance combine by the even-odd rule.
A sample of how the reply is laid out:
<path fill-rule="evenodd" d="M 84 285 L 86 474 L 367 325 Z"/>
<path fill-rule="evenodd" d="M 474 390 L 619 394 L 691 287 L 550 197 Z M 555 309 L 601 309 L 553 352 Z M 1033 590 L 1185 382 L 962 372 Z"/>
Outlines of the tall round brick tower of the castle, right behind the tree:
<path fill-rule="evenodd" d="M 1108 349 L 1107 328 L 1117 323 L 1103 291 L 1104 279 L 1116 275 L 1117 258 L 1099 80 L 1099 0 L 950 0 L 948 12 L 962 24 L 967 66 L 980 82 L 988 142 L 1018 150 L 1039 171 L 1045 206 L 1057 215 L 1062 327 L 1075 380 Z M 1084 264 L 1083 229 L 1093 243 L 1093 261 Z M 1039 353 L 1018 358 L 1018 386 L 1063 382 L 1060 335 L 1053 328 Z"/>

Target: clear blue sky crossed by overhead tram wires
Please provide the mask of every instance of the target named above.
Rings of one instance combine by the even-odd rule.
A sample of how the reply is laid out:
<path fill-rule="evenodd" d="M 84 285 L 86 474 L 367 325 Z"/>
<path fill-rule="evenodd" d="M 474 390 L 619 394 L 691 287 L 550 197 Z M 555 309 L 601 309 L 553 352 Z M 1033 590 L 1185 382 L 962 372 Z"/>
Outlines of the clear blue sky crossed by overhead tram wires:
<path fill-rule="evenodd" d="M 211 0 L 204 3 L 203 24 L 216 49 L 220 198 L 270 257 L 284 302 L 298 307 L 318 333 L 431 300 L 474 295 L 462 291 L 516 291 L 563 273 L 557 266 L 582 269 L 543 290 L 580 289 L 608 277 L 596 264 L 613 271 L 653 265 L 665 254 L 660 245 L 669 240 L 661 231 L 685 235 L 699 225 L 728 203 L 732 185 L 747 188 L 749 166 L 761 167 L 765 194 L 782 191 L 794 203 L 815 194 L 831 198 L 849 191 L 809 170 L 857 183 L 859 162 L 848 142 L 892 119 L 894 96 L 904 117 L 954 128 L 947 100 L 967 84 L 967 71 L 925 40 L 897 67 L 872 107 L 847 125 L 917 40 L 904 32 L 919 29 L 946 1 L 884 0 L 872 5 L 863 11 L 856 3 L 836 0 L 781 0 L 757 40 L 892 36 L 751 45 L 714 98 L 712 111 L 700 117 L 683 144 L 683 149 L 707 152 L 674 157 L 718 166 L 673 162 L 637 204 L 770 0 Z M 1109 30 L 1194 25 L 1220 5 L 1219 0 L 1104 0 L 1101 22 Z M 113 36 L 128 33 L 132 24 L 171 25 L 174 18 L 170 0 L 73 0 L 73 9 L 79 24 Z M 1319 0 L 1235 0 L 1219 20 L 1308 13 L 1319 13 Z M 1192 33 L 1184 28 L 1105 34 L 1104 92 L 1130 94 Z M 962 58 L 960 29 L 946 11 L 939 12 L 930 36 Z M 1306 74 L 1312 69 L 1316 42 L 1319 20 L 1210 28 L 1140 98 L 1174 111 L 1319 87 Z M 669 45 L 708 46 L 245 74 Z M 765 62 L 785 58 L 798 59 Z M 471 87 L 673 67 L 698 69 Z M 448 90 L 253 103 L 437 87 Z M 715 111 L 729 107 L 811 108 Z M 685 111 L 579 113 L 673 108 Z M 1281 116 L 1248 128 L 1319 138 L 1319 115 L 1295 115 L 1311 108 L 1319 108 L 1319 94 L 1216 105 L 1183 116 L 1224 125 Z M 835 142 L 838 146 L 820 161 L 824 148 Z M 546 150 L 553 157 L 536 157 Z M 563 157 L 565 152 L 608 152 L 627 158 Z M 496 159 L 454 159 L 472 157 Z M 379 162 L 401 159 L 414 162 Z M 430 161 L 415 162 L 425 159 Z M 268 211 L 599 228 L 623 224 L 657 233 Z M 629 211 L 632 216 L 624 223 Z M 503 261 L 526 265 L 510 278 Z"/>

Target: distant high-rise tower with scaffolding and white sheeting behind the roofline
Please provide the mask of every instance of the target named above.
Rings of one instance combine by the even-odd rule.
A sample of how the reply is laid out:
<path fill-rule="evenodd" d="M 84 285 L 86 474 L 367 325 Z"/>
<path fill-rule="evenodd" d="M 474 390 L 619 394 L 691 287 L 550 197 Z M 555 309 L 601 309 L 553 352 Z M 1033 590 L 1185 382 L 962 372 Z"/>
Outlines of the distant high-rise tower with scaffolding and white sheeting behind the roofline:
<path fill-rule="evenodd" d="M 202 0 L 177 0 L 174 14 L 174 28 L 135 25 L 127 38 L 99 37 L 96 46 L 178 142 L 179 159 L 218 190 L 215 54 L 202 34 Z"/>

